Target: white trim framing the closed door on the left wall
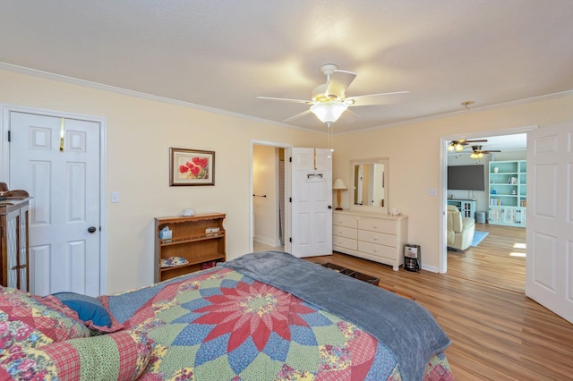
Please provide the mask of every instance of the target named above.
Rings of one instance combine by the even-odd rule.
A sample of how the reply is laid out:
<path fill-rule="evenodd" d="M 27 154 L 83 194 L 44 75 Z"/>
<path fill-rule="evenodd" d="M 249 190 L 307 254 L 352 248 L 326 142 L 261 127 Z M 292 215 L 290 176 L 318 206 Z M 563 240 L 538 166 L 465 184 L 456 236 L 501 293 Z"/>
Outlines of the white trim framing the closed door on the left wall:
<path fill-rule="evenodd" d="M 99 294 L 107 293 L 107 118 L 102 116 L 74 114 L 65 111 L 47 110 L 30 106 L 16 106 L 0 104 L 0 157 L 2 166 L 0 167 L 0 178 L 5 179 L 10 185 L 10 145 L 8 143 L 8 127 L 10 126 L 10 113 L 43 114 L 69 119 L 81 119 L 85 121 L 99 123 L 99 221 L 101 231 L 99 232 Z"/>

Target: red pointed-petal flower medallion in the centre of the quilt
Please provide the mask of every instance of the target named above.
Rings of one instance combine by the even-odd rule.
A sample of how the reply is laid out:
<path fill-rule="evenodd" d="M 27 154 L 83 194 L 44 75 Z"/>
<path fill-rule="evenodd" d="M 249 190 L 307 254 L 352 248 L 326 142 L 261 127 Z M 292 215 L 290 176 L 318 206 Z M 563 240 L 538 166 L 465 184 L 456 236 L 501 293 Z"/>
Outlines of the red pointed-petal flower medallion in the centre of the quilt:
<path fill-rule="evenodd" d="M 272 332 L 290 340 L 289 326 L 309 326 L 300 315 L 315 312 L 294 295 L 261 282 L 242 282 L 236 289 L 221 288 L 221 292 L 205 298 L 212 305 L 194 310 L 206 314 L 193 323 L 216 325 L 205 342 L 230 332 L 227 351 L 235 350 L 249 337 L 262 351 Z"/>

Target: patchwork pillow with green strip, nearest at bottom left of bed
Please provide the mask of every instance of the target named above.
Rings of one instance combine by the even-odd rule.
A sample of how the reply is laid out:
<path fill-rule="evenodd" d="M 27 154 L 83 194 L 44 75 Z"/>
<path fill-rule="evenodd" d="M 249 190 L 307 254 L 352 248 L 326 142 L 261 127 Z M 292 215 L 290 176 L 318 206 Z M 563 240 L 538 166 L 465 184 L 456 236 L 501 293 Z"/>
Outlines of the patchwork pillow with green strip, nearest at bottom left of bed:
<path fill-rule="evenodd" d="M 150 361 L 143 330 L 51 343 L 0 359 L 0 379 L 135 380 Z"/>

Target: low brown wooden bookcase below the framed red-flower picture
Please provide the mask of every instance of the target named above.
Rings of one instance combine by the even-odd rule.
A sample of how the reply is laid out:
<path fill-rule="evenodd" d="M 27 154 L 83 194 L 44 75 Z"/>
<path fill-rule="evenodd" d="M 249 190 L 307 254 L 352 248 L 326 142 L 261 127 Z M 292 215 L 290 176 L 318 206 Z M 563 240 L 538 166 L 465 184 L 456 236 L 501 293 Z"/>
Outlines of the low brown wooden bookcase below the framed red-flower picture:
<path fill-rule="evenodd" d="M 155 218 L 155 282 L 224 262 L 225 216 L 213 213 Z"/>

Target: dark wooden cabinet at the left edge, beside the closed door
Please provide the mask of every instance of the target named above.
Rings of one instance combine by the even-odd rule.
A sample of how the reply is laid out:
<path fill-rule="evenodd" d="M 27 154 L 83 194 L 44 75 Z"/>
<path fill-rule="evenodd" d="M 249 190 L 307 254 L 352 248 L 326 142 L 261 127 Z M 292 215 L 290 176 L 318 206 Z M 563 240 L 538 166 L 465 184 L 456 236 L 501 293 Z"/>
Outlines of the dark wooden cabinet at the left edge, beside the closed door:
<path fill-rule="evenodd" d="M 29 291 L 29 201 L 0 201 L 0 284 Z"/>

